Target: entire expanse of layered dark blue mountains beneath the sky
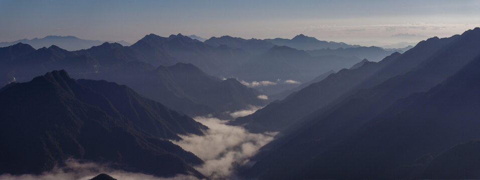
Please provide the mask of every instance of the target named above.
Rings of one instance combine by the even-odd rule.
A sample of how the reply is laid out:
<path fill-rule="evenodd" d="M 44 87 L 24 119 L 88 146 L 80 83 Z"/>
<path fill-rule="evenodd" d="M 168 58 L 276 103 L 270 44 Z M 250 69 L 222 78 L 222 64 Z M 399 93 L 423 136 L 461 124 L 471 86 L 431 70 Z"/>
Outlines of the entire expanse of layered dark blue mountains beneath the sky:
<path fill-rule="evenodd" d="M 231 155 L 233 173 L 215 177 L 480 178 L 480 27 L 403 50 L 303 34 L 191 37 L 0 47 L 0 140 L 9 144 L 0 173 L 38 174 L 73 158 L 201 179 Z M 257 151 L 255 139 L 270 134 Z M 230 136 L 248 141 L 205 162 L 171 142 L 221 146 Z"/>

